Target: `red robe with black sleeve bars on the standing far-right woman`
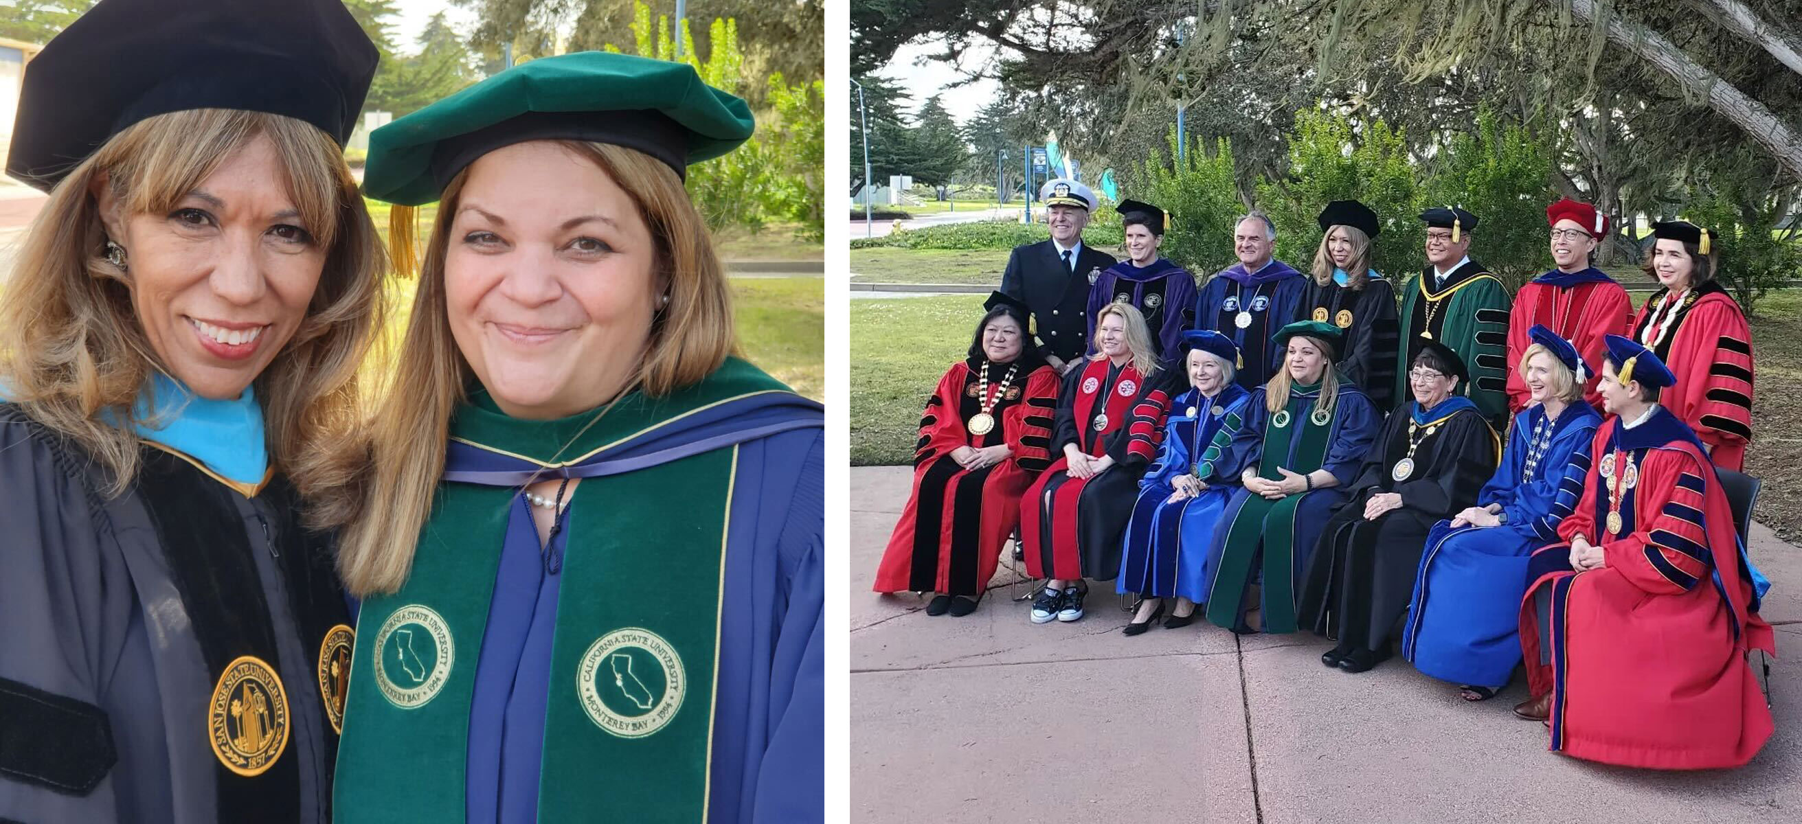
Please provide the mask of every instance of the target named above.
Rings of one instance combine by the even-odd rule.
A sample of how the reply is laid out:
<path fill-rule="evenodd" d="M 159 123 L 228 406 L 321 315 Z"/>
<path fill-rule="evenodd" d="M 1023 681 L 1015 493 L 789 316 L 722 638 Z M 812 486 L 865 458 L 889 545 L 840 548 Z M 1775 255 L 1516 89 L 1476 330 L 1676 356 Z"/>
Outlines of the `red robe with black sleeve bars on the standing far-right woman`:
<path fill-rule="evenodd" d="M 1652 292 L 1633 319 L 1633 339 L 1658 353 L 1678 384 L 1658 404 L 1696 429 L 1708 458 L 1741 471 L 1752 442 L 1752 328 L 1739 303 L 1716 281 L 1696 287 L 1692 303 L 1678 301 L 1676 321 L 1658 312 L 1665 290 Z M 1656 317 L 1656 325 L 1652 323 Z M 1600 366 L 1600 362 L 1598 362 Z"/>

